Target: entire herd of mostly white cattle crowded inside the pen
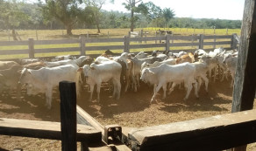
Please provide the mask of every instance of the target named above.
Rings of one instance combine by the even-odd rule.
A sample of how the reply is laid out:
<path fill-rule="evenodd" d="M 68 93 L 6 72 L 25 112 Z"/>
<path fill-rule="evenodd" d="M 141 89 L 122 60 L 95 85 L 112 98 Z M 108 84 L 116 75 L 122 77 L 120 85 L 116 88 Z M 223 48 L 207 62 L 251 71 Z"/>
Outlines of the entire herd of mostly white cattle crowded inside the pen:
<path fill-rule="evenodd" d="M 96 86 L 97 100 L 100 100 L 100 89 L 103 82 L 108 82 L 113 91 L 113 98 L 120 98 L 121 88 L 124 93 L 130 89 L 137 92 L 140 81 L 153 86 L 153 100 L 156 94 L 163 89 L 163 99 L 174 91 L 176 85 L 186 87 L 184 100 L 192 88 L 195 95 L 204 83 L 208 92 L 210 81 L 217 78 L 234 79 L 238 51 L 225 51 L 223 48 L 206 52 L 202 49 L 195 52 L 180 51 L 153 51 L 151 55 L 140 51 L 137 54 L 124 52 L 116 55 L 105 51 L 96 59 L 81 56 L 56 57 L 51 61 L 42 61 L 39 58 L 25 58 L 20 61 L 0 61 L 0 88 L 1 92 L 11 92 L 15 89 L 17 99 L 20 99 L 22 88 L 28 95 L 44 93 L 46 106 L 51 108 L 53 88 L 59 86 L 62 80 L 74 81 L 76 93 L 82 93 L 83 85 L 89 85 L 89 100 L 92 100 Z M 231 86 L 233 80 L 231 82 Z"/>

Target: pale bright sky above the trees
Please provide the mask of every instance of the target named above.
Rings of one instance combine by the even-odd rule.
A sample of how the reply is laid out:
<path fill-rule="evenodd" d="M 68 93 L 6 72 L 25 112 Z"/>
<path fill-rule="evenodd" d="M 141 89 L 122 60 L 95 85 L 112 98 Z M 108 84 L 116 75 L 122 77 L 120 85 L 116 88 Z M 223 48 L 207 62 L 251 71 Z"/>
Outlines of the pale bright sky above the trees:
<path fill-rule="evenodd" d="M 153 2 L 161 9 L 174 10 L 175 17 L 215 18 L 242 20 L 245 0 L 143 0 L 143 3 Z M 103 10 L 125 10 L 125 0 L 115 0 L 115 3 L 106 3 Z"/>

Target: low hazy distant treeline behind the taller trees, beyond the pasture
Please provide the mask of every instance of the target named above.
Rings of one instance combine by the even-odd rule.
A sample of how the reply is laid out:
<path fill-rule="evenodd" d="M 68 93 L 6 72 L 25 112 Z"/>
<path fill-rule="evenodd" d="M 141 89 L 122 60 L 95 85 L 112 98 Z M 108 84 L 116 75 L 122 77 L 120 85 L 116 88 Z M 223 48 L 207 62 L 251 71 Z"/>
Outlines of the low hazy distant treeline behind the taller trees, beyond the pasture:
<path fill-rule="evenodd" d="M 1 2 L 1 0 L 0 0 Z M 6 6 L 4 6 L 6 7 Z M 0 3 L 1 9 L 1 3 Z M 18 3 L 18 10 L 22 11 L 25 19 L 20 20 L 16 25 L 16 29 L 21 30 L 44 30 L 44 29 L 65 29 L 65 26 L 56 19 L 46 20 L 42 14 L 42 10 L 38 3 Z M 1 11 L 1 10 L 0 10 Z M 119 11 L 101 10 L 100 26 L 102 29 L 108 28 L 130 28 L 130 13 Z M 3 14 L 2 14 L 3 15 Z M 15 15 L 15 14 L 13 14 Z M 164 18 L 148 20 L 145 16 L 138 14 L 138 21 L 135 28 L 145 27 L 170 27 L 170 28 L 217 28 L 217 29 L 238 29 L 241 28 L 241 20 L 222 20 L 222 19 L 199 19 L 189 17 L 174 17 L 168 22 Z M 9 17 L 10 18 L 10 17 Z M 4 17 L 0 15 L 0 30 L 10 29 L 8 24 L 4 24 Z M 95 29 L 95 24 L 87 24 L 84 22 L 75 23 L 73 29 Z"/>

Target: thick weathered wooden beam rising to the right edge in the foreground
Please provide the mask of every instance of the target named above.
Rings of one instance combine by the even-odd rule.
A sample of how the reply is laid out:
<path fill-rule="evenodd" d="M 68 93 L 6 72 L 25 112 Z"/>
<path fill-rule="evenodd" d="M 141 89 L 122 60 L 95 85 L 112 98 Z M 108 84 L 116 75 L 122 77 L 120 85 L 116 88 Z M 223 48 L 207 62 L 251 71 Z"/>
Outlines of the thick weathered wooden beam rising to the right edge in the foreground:
<path fill-rule="evenodd" d="M 256 141 L 255 114 L 250 110 L 143 127 L 128 137 L 140 150 L 223 150 Z"/>

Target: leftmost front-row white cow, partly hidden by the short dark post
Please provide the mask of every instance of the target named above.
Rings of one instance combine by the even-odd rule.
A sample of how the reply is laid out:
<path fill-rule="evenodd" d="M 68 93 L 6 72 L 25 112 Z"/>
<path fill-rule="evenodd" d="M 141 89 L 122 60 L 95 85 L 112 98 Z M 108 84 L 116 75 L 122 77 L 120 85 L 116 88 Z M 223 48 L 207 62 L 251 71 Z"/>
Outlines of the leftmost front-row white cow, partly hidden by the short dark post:
<path fill-rule="evenodd" d="M 46 106 L 48 109 L 52 106 L 53 87 L 59 86 L 62 80 L 76 82 L 76 93 L 79 95 L 81 77 L 77 65 L 60 65 L 56 67 L 43 67 L 39 70 L 23 69 L 19 82 L 22 85 L 32 86 L 30 91 L 35 90 L 35 93 L 46 94 Z"/>

